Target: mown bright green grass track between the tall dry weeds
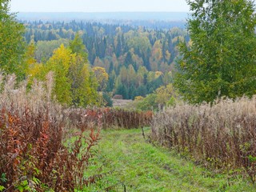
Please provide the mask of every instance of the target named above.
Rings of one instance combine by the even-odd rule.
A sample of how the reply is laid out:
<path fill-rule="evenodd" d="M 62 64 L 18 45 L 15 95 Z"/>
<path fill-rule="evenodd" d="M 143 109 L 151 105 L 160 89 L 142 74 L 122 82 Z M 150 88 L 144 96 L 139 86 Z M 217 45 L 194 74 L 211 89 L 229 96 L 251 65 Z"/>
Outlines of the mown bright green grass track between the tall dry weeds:
<path fill-rule="evenodd" d="M 146 130 L 149 134 L 150 130 Z M 142 138 L 141 130 L 102 130 L 87 174 L 104 178 L 83 191 L 256 191 L 242 178 L 213 174 Z"/>

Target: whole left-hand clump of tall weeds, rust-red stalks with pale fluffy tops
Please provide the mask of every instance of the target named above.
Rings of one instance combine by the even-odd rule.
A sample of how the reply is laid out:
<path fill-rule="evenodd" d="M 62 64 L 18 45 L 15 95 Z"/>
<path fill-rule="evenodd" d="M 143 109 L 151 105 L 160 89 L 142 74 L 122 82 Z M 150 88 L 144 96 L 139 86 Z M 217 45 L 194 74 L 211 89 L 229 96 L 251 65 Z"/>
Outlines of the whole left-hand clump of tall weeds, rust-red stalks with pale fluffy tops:
<path fill-rule="evenodd" d="M 68 130 L 62 106 L 47 100 L 49 84 L 15 84 L 8 76 L 0 94 L 0 190 L 74 191 L 101 178 L 84 176 L 99 132 Z"/>

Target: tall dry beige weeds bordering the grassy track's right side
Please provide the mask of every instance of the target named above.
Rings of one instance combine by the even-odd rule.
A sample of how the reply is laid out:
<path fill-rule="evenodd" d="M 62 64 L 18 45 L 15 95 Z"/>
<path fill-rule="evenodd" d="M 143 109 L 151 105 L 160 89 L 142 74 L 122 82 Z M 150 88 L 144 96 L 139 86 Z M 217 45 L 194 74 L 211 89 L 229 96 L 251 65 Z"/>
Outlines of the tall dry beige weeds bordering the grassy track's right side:
<path fill-rule="evenodd" d="M 256 98 L 182 105 L 155 114 L 152 137 L 215 169 L 256 175 Z"/>

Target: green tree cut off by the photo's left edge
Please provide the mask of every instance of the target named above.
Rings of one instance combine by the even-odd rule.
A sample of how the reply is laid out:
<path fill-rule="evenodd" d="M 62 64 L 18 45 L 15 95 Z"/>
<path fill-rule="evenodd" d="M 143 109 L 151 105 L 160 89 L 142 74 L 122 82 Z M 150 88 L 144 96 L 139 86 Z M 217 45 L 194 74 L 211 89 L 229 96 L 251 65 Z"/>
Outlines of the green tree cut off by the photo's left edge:
<path fill-rule="evenodd" d="M 10 0 L 0 1 L 0 68 L 7 74 L 25 78 L 26 63 L 24 54 L 26 44 L 23 39 L 24 26 L 9 13 Z"/>

